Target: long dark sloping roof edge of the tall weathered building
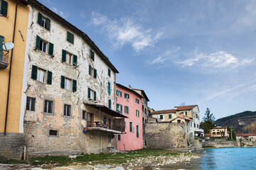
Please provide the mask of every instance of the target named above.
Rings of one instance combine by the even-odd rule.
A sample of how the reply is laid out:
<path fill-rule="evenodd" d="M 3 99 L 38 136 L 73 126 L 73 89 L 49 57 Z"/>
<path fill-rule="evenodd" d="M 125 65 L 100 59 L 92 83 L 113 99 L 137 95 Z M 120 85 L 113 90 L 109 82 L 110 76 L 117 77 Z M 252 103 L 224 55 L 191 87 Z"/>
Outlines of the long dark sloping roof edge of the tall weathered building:
<path fill-rule="evenodd" d="M 62 24 L 63 26 L 65 26 L 66 28 L 68 28 L 69 30 L 72 30 L 74 33 L 77 33 L 77 35 L 79 35 L 83 40 L 85 40 L 85 42 L 87 42 L 87 44 L 92 48 L 92 50 L 94 52 L 97 52 L 97 55 L 99 55 L 99 57 L 110 67 L 110 69 L 112 69 L 115 73 L 119 73 L 117 71 L 117 69 L 114 67 L 114 65 L 110 62 L 110 60 L 107 58 L 107 56 L 105 56 L 103 54 L 102 51 L 100 51 L 99 47 L 97 47 L 97 45 L 95 45 L 95 42 L 93 42 L 86 33 L 83 33 L 82 30 L 79 30 L 78 28 L 76 28 L 75 26 L 73 26 L 71 23 L 69 23 L 68 21 L 65 21 L 64 18 L 62 18 L 61 16 L 59 16 L 57 13 L 54 13 L 53 11 L 51 11 L 49 8 L 47 8 L 46 6 L 44 6 L 43 4 L 41 4 L 40 2 L 36 1 L 36 0 L 27 0 L 28 3 L 35 7 L 38 8 L 38 10 L 43 11 L 44 13 L 46 13 L 46 15 L 50 16 L 51 18 L 55 19 L 55 21 L 57 21 L 58 23 Z"/>

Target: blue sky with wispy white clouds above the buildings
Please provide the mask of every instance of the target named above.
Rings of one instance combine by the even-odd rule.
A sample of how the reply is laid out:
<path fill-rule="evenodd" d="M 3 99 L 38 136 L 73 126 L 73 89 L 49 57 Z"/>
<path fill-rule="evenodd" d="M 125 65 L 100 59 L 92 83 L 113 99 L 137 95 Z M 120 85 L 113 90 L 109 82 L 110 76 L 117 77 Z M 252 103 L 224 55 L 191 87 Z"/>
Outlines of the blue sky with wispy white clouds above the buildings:
<path fill-rule="evenodd" d="M 86 33 L 143 89 L 149 108 L 256 111 L 256 1 L 40 0 Z"/>

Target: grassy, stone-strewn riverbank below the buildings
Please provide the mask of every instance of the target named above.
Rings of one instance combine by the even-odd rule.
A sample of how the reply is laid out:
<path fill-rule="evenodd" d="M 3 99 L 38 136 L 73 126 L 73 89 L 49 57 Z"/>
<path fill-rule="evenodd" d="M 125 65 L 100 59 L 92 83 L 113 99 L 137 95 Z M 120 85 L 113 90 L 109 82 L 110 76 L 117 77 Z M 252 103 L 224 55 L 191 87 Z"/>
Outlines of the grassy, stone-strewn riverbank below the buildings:
<path fill-rule="evenodd" d="M 27 161 L 31 169 L 142 169 L 144 166 L 157 168 L 166 164 L 199 159 L 201 154 L 174 152 L 165 149 L 141 149 L 132 152 L 112 154 L 80 154 L 70 157 L 35 157 Z M 4 162 L 1 162 L 4 163 Z M 7 162 L 6 162 L 7 163 Z M 8 164 L 8 163 L 7 163 Z M 26 165 L 28 169 L 29 165 Z M 0 165 L 0 167 L 4 167 Z M 7 166 L 8 169 L 11 165 Z M 60 168 L 61 167 L 61 168 Z M 35 169 L 36 170 L 36 169 Z"/>

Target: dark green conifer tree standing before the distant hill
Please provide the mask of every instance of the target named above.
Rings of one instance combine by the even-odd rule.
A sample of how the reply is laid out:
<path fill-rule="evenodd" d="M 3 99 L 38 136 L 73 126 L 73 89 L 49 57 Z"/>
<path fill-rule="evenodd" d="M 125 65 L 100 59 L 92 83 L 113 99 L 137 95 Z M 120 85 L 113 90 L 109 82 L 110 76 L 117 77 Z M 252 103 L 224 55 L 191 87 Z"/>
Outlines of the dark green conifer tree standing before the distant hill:
<path fill-rule="evenodd" d="M 203 122 L 200 123 L 201 127 L 203 127 L 204 133 L 209 133 L 210 129 L 215 127 L 215 117 L 213 113 L 210 113 L 210 109 L 206 108 L 205 116 L 203 117 Z"/>

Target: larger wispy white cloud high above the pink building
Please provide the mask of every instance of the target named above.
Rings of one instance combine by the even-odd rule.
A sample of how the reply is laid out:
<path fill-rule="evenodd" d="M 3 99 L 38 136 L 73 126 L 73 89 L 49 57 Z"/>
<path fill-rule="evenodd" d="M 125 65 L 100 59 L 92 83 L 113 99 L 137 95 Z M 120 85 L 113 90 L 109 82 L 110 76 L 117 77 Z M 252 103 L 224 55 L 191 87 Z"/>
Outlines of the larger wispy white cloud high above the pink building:
<path fill-rule="evenodd" d="M 95 26 L 100 26 L 102 31 L 107 33 L 114 47 L 131 44 L 137 52 L 145 47 L 153 47 L 162 35 L 161 31 L 154 33 L 151 29 L 143 28 L 132 18 L 120 18 L 112 21 L 107 16 L 92 12 L 92 23 Z"/>

